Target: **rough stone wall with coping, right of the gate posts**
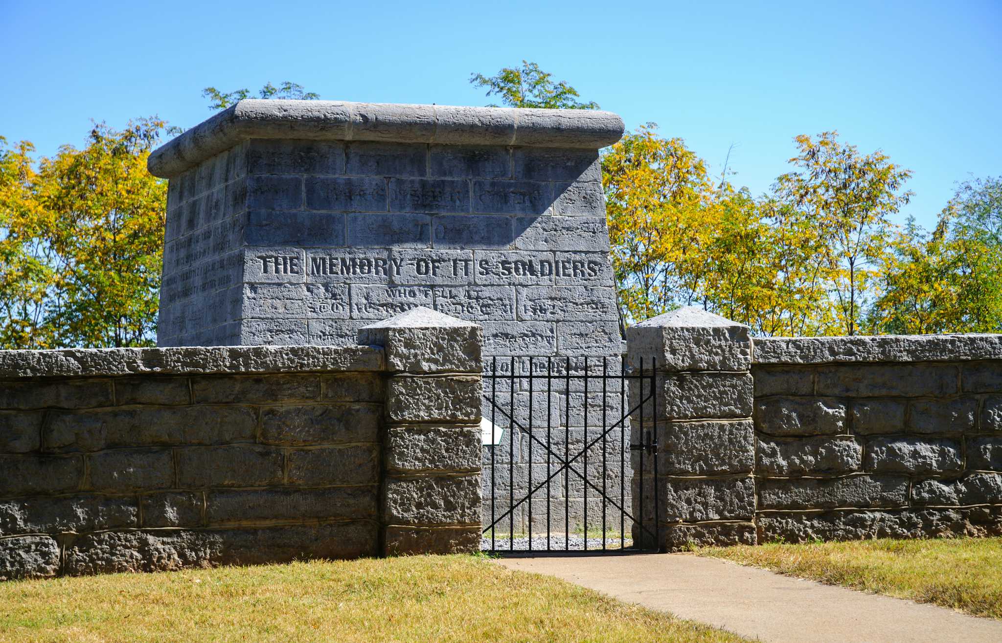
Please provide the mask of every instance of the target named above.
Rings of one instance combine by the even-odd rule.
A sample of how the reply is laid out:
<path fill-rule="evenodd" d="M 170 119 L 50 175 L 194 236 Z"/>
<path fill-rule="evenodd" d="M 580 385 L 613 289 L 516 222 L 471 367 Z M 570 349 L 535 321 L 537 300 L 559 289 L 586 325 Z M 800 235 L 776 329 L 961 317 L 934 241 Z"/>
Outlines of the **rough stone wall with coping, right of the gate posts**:
<path fill-rule="evenodd" d="M 1002 336 L 756 340 L 763 541 L 1002 534 Z"/>

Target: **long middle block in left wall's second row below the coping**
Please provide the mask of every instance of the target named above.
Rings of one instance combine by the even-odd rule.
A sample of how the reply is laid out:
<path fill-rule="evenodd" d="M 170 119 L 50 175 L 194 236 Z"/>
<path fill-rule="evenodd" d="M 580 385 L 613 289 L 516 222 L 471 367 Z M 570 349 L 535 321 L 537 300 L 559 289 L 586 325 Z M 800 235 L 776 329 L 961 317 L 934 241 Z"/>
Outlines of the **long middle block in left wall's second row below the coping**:
<path fill-rule="evenodd" d="M 257 418 L 247 407 L 165 407 L 50 413 L 43 431 L 49 451 L 211 445 L 253 441 Z"/>

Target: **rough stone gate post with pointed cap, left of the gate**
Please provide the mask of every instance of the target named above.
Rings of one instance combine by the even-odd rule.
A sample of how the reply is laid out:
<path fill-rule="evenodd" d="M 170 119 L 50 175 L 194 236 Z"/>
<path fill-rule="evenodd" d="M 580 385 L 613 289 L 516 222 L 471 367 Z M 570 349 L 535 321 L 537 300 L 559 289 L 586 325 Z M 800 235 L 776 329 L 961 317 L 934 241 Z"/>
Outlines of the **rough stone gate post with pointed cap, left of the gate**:
<path fill-rule="evenodd" d="M 359 331 L 387 362 L 384 554 L 480 548 L 483 330 L 425 307 Z"/>

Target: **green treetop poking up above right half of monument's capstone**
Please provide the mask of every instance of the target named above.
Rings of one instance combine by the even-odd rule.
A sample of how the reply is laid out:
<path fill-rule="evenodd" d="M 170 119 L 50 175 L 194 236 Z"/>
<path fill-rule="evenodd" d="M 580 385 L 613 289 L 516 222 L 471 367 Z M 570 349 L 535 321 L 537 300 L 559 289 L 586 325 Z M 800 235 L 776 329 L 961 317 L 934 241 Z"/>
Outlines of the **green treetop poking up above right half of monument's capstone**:
<path fill-rule="evenodd" d="M 578 102 L 576 99 L 580 94 L 577 90 L 563 80 L 554 83 L 552 76 L 536 63 L 523 60 L 521 67 L 504 67 L 495 76 L 471 74 L 470 83 L 477 87 L 487 87 L 486 96 L 497 94 L 508 107 L 598 109 L 596 102 Z"/>

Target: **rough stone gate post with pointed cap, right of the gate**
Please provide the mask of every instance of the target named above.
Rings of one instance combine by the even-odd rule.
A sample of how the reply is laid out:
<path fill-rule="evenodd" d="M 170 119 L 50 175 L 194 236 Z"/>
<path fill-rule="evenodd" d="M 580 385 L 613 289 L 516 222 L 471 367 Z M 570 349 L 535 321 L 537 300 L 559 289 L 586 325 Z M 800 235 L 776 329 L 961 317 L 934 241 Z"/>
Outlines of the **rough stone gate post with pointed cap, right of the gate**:
<path fill-rule="evenodd" d="M 698 545 L 755 544 L 755 427 L 752 422 L 752 340 L 747 327 L 701 308 L 684 307 L 626 330 L 629 366 L 657 371 L 655 405 L 632 417 L 638 444 L 656 416 L 658 470 L 650 458 L 633 461 L 633 515 L 643 484 L 644 522 L 656 546 L 676 551 Z M 631 389 L 630 408 L 639 404 Z M 647 517 L 656 496 L 660 523 Z M 634 526 L 634 540 L 650 536 Z"/>

